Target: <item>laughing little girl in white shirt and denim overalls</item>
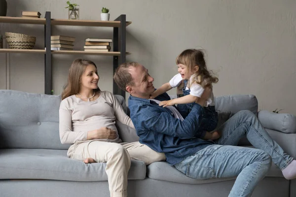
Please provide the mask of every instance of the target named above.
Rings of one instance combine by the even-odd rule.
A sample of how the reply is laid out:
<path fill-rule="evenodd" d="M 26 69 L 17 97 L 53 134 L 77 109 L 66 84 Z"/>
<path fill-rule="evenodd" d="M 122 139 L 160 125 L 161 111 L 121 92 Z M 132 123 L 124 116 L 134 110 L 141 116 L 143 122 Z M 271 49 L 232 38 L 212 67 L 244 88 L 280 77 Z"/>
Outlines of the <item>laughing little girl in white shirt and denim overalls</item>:
<path fill-rule="evenodd" d="M 154 99 L 172 88 L 178 87 L 184 80 L 185 88 L 180 98 L 161 101 L 160 106 L 166 107 L 179 104 L 180 110 L 191 110 L 192 103 L 201 97 L 205 88 L 212 90 L 212 83 L 217 83 L 218 78 L 213 76 L 207 69 L 204 59 L 204 53 L 201 50 L 187 49 L 183 51 L 176 59 L 178 65 L 178 74 L 176 74 L 168 83 L 163 84 L 160 88 L 150 95 L 150 99 Z M 186 104 L 186 105 L 183 105 Z M 215 109 L 215 99 L 213 91 L 211 97 L 204 106 L 204 114 L 201 120 L 200 128 L 195 134 L 196 137 L 202 139 L 218 139 L 220 134 L 215 130 L 218 123 L 218 114 Z"/>

